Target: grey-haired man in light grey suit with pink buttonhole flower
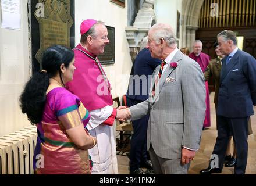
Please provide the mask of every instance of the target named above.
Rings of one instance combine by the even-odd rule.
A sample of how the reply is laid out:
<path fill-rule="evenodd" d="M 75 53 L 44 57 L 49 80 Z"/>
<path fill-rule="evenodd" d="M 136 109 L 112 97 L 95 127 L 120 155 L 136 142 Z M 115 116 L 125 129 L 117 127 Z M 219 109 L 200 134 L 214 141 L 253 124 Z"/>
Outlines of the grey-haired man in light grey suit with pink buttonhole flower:
<path fill-rule="evenodd" d="M 148 32 L 154 73 L 149 98 L 131 106 L 131 120 L 150 114 L 147 149 L 156 174 L 187 174 L 199 149 L 205 117 L 205 83 L 200 66 L 177 49 L 172 27 L 154 24 Z"/>

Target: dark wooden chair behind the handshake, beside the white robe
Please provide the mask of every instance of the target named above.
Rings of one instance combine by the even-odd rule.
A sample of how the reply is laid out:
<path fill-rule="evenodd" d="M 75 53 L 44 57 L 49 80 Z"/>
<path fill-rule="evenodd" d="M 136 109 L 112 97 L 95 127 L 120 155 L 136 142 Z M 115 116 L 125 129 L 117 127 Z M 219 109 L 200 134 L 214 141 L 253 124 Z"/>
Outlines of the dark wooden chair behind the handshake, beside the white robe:
<path fill-rule="evenodd" d="M 114 105 L 120 106 L 119 98 L 113 99 Z M 116 106 L 115 106 L 116 107 Z M 118 155 L 129 156 L 130 153 L 130 140 L 131 135 L 133 134 L 133 125 L 130 122 L 126 121 L 122 123 L 116 120 L 116 153 Z"/>

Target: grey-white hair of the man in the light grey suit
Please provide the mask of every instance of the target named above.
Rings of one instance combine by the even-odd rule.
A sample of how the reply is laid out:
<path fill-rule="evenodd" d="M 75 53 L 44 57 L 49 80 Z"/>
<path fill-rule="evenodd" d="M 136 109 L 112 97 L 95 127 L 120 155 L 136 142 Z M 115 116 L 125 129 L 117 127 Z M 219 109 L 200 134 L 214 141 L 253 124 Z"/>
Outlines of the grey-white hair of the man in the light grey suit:
<path fill-rule="evenodd" d="M 161 38 L 163 38 L 169 47 L 173 47 L 173 45 L 177 44 L 176 35 L 173 28 L 168 24 L 157 23 L 154 24 L 150 30 L 155 30 L 154 34 L 152 35 L 155 42 L 159 43 Z"/>

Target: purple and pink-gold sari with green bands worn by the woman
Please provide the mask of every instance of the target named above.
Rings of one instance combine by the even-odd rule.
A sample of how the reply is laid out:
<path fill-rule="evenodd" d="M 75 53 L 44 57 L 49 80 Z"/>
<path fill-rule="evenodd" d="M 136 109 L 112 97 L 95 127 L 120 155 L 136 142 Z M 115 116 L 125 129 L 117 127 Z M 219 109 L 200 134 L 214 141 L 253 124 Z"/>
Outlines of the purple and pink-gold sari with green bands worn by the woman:
<path fill-rule="evenodd" d="M 35 173 L 91 174 L 88 151 L 77 148 L 66 133 L 67 129 L 83 123 L 88 134 L 88 110 L 76 95 L 65 88 L 54 88 L 46 96 L 42 121 L 37 124 L 38 137 L 33 161 Z M 61 122 L 60 118 L 65 122 Z M 43 164 L 40 162 L 42 160 Z"/>

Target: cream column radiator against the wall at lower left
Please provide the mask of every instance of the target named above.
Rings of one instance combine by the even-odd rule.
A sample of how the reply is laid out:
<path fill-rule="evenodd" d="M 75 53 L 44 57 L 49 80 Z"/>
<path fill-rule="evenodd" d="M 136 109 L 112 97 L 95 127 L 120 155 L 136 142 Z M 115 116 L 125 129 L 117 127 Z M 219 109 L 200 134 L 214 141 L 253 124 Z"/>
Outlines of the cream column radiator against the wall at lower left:
<path fill-rule="evenodd" d="M 37 128 L 24 128 L 0 137 L 0 174 L 34 174 Z"/>

